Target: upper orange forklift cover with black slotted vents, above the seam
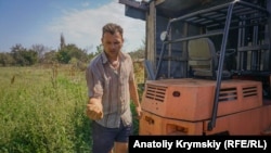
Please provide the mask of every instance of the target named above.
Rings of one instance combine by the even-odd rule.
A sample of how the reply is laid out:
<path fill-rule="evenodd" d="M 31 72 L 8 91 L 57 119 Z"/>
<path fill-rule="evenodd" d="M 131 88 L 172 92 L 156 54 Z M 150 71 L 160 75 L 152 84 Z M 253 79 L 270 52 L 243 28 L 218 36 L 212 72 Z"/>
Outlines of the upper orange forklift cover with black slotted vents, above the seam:
<path fill-rule="evenodd" d="M 153 114 L 185 120 L 203 120 L 211 116 L 216 81 L 204 79 L 168 79 L 147 81 L 142 109 Z M 218 116 L 260 106 L 261 82 L 224 80 L 223 94 L 235 94 L 232 100 L 219 102 Z M 231 91 L 232 90 L 232 91 Z M 179 93 L 179 94 L 173 94 Z M 228 95 L 223 95 L 223 99 Z"/>

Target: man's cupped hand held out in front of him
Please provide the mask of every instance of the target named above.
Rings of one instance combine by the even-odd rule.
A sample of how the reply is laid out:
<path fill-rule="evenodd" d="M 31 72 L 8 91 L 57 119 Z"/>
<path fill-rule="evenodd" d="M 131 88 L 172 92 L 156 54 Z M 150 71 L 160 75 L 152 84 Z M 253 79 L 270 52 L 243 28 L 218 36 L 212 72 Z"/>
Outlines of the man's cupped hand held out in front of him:
<path fill-rule="evenodd" d="M 90 99 L 87 104 L 87 116 L 93 120 L 103 118 L 103 106 L 101 100 Z"/>

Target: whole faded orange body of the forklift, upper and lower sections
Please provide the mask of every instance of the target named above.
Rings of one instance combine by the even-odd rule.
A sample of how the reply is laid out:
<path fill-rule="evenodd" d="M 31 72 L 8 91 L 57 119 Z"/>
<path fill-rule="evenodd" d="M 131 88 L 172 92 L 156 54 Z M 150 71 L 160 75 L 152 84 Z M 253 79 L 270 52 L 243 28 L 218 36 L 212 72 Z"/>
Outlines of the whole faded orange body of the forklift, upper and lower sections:
<path fill-rule="evenodd" d="M 271 105 L 262 104 L 260 81 L 221 82 L 216 127 L 208 131 L 216 81 L 165 79 L 146 81 L 140 135 L 259 135 L 271 124 Z"/>

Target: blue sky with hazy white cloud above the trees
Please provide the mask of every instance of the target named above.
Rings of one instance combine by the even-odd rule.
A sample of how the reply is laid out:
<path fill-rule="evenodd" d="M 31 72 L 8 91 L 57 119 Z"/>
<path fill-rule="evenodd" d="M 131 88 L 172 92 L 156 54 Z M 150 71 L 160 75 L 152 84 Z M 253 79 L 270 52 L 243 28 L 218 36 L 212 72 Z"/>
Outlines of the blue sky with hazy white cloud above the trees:
<path fill-rule="evenodd" d="M 108 22 L 122 26 L 124 51 L 143 46 L 145 22 L 125 16 L 118 0 L 0 0 L 0 52 L 15 44 L 57 50 L 61 35 L 66 44 L 95 52 Z"/>

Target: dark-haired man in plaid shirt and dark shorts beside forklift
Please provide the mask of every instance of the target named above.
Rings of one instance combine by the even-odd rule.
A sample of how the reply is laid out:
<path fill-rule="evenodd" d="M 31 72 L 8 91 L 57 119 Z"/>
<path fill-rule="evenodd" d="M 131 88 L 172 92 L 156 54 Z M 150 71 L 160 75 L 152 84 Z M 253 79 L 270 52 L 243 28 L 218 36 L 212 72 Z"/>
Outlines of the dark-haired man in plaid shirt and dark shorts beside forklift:
<path fill-rule="evenodd" d="M 93 153 L 127 153 L 132 130 L 130 100 L 141 115 L 132 60 L 121 52 L 122 28 L 113 23 L 103 26 L 104 51 L 95 56 L 86 72 L 89 103 L 87 115 L 92 119 Z"/>

